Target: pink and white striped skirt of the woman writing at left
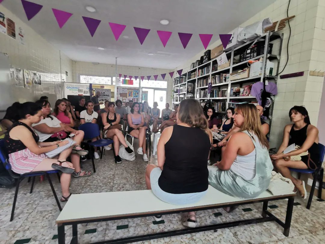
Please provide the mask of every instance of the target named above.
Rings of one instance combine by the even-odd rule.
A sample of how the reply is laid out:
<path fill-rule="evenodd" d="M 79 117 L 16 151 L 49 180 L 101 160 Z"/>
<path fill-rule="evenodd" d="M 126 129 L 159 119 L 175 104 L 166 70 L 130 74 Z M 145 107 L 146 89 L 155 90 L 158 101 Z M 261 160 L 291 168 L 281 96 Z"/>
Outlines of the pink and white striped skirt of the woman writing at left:
<path fill-rule="evenodd" d="M 31 172 L 47 156 L 34 154 L 28 148 L 9 154 L 11 170 L 18 174 Z"/>

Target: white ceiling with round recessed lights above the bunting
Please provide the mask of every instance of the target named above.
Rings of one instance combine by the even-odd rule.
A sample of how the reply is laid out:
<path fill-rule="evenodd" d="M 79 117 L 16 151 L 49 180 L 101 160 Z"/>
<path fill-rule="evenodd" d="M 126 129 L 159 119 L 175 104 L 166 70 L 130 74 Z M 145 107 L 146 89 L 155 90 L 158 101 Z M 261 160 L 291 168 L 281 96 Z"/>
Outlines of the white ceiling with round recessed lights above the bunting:
<path fill-rule="evenodd" d="M 20 0 L 2 4 L 28 23 L 33 30 L 67 54 L 72 60 L 174 69 L 203 50 L 198 34 L 214 34 L 210 43 L 227 34 L 275 0 L 29 0 L 43 5 L 41 11 L 27 20 Z M 86 5 L 97 9 L 85 10 Z M 62 29 L 51 8 L 73 13 Z M 102 20 L 91 37 L 82 16 Z M 268 16 L 265 16 L 265 18 Z M 170 24 L 163 26 L 160 20 Z M 109 22 L 126 25 L 116 42 Z M 133 27 L 151 29 L 141 46 Z M 166 47 L 157 30 L 173 32 Z M 193 33 L 186 49 L 177 32 Z M 28 33 L 26 33 L 28 34 Z M 104 47 L 105 50 L 98 50 Z M 148 53 L 154 53 L 149 56 Z"/>

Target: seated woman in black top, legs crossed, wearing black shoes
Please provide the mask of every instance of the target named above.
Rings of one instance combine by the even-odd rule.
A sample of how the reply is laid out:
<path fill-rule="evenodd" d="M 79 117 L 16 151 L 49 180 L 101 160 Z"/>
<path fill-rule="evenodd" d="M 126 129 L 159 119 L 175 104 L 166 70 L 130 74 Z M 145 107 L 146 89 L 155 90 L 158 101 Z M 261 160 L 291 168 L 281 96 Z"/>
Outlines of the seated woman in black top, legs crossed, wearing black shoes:
<path fill-rule="evenodd" d="M 104 126 L 103 135 L 106 135 L 107 138 L 113 140 L 115 163 L 122 163 L 121 157 L 119 156 L 120 143 L 125 147 L 125 150 L 128 154 L 132 154 L 133 150 L 126 144 L 123 133 L 120 130 L 121 115 L 115 113 L 114 102 L 108 102 L 107 105 L 109 112 L 101 114 Z"/>

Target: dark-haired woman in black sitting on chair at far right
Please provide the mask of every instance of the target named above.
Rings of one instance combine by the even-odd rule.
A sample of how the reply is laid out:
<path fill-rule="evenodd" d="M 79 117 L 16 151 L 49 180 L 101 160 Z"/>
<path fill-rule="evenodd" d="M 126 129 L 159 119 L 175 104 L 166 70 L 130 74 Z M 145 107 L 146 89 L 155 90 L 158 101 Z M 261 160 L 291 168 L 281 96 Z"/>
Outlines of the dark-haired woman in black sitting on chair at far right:
<path fill-rule="evenodd" d="M 291 179 L 292 183 L 298 189 L 301 197 L 306 198 L 307 192 L 305 182 L 297 180 L 291 174 L 288 168 L 295 169 L 316 169 L 320 167 L 319 149 L 318 149 L 318 129 L 310 124 L 308 112 L 303 106 L 294 106 L 289 111 L 290 120 L 293 125 L 286 125 L 283 133 L 283 141 L 276 154 L 271 158 L 274 160 L 277 170 L 286 178 Z M 283 151 L 291 144 L 299 145 L 300 148 L 289 153 L 283 154 Z M 297 156 L 308 151 L 309 156 L 301 156 L 301 160 L 289 160 L 291 156 Z M 286 160 L 285 160 L 286 159 Z M 289 161 L 287 161 L 289 160 Z"/>

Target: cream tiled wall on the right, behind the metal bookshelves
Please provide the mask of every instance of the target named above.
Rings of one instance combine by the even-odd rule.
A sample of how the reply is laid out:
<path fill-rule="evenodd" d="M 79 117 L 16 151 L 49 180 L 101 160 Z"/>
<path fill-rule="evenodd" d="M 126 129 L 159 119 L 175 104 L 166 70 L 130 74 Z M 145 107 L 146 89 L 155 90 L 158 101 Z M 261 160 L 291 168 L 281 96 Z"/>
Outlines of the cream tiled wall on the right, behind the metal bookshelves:
<path fill-rule="evenodd" d="M 272 21 L 287 17 L 288 0 L 277 0 L 261 12 L 240 24 L 244 27 L 256 21 L 270 18 Z M 317 125 L 323 77 L 310 76 L 309 70 L 325 71 L 325 0 L 291 0 L 289 16 L 291 38 L 289 41 L 289 61 L 282 74 L 304 71 L 304 76 L 279 79 L 278 95 L 274 103 L 270 146 L 278 147 L 282 141 L 284 126 L 290 123 L 289 109 L 293 105 L 305 105 L 311 123 Z M 289 27 L 286 22 L 282 45 L 280 71 L 287 59 Z M 231 30 L 229 30 L 231 31 Z M 220 45 L 221 41 L 211 44 L 207 49 Z M 276 52 L 277 50 L 273 50 Z M 188 70 L 192 62 L 200 59 L 202 52 L 175 68 Z"/>

